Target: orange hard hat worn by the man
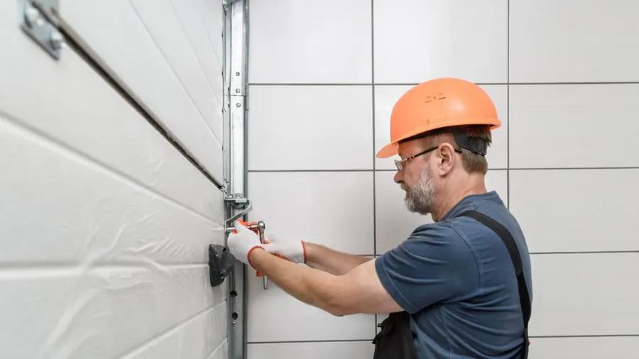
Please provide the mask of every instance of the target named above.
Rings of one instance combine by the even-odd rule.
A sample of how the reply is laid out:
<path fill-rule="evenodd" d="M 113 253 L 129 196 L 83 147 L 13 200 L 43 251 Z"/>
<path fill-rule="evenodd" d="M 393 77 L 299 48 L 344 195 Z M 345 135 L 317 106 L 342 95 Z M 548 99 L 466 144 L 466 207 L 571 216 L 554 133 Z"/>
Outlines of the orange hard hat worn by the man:
<path fill-rule="evenodd" d="M 490 96 L 481 87 L 463 79 L 444 78 L 422 82 L 409 89 L 393 106 L 391 143 L 377 158 L 398 153 L 401 140 L 453 126 L 501 126 Z"/>

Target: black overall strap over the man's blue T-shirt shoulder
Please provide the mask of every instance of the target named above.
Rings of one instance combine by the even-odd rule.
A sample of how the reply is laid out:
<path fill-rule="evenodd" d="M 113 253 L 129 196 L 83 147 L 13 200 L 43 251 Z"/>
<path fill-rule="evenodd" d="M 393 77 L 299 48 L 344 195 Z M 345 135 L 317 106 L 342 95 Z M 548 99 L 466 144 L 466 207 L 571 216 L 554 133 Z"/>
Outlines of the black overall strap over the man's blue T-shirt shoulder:
<path fill-rule="evenodd" d="M 528 357 L 528 321 L 530 320 L 530 295 L 528 295 L 528 287 L 526 286 L 526 279 L 524 277 L 524 273 L 521 265 L 521 256 L 519 254 L 519 249 L 517 248 L 517 243 L 515 243 L 515 239 L 513 235 L 510 234 L 510 231 L 506 229 L 501 223 L 495 221 L 486 214 L 480 213 L 478 211 L 465 211 L 464 213 L 459 215 L 471 217 L 475 221 L 483 224 L 484 226 L 490 228 L 493 232 L 501 238 L 501 241 L 504 245 L 506 245 L 506 249 L 508 249 L 508 254 L 510 255 L 510 261 L 513 262 L 513 267 L 515 267 L 515 275 L 517 276 L 517 285 L 519 289 L 519 305 L 521 307 L 521 313 L 523 315 L 523 324 L 524 324 L 524 352 L 522 358 Z"/>

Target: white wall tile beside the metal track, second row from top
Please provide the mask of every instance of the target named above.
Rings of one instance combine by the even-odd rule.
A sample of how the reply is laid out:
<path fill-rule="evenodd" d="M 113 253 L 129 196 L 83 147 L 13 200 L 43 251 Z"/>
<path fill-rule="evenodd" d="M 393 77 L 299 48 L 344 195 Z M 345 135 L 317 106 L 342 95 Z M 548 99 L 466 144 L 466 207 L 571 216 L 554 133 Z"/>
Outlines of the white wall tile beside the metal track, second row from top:
<path fill-rule="evenodd" d="M 373 170 L 370 85 L 252 86 L 249 109 L 249 170 Z"/>

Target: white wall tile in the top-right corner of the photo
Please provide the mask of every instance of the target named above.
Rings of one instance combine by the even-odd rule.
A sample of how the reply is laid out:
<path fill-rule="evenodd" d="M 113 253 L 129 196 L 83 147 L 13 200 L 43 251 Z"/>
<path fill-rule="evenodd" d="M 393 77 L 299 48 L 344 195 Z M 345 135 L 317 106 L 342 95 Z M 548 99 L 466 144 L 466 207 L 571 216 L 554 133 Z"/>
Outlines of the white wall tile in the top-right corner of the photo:
<path fill-rule="evenodd" d="M 510 82 L 636 82 L 639 2 L 510 0 Z"/>

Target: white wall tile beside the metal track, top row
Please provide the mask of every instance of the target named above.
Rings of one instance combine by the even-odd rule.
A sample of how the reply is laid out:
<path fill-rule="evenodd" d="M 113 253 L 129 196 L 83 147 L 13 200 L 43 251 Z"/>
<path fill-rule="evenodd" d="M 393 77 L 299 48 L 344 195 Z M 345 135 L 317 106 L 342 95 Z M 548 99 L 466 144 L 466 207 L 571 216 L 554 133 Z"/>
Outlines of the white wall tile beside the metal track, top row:
<path fill-rule="evenodd" d="M 249 81 L 371 83 L 370 0 L 251 4 Z"/>

